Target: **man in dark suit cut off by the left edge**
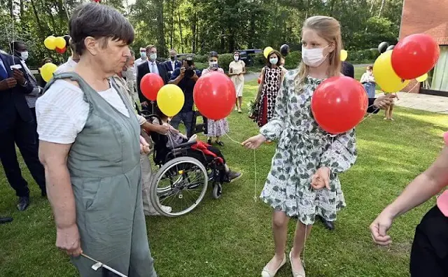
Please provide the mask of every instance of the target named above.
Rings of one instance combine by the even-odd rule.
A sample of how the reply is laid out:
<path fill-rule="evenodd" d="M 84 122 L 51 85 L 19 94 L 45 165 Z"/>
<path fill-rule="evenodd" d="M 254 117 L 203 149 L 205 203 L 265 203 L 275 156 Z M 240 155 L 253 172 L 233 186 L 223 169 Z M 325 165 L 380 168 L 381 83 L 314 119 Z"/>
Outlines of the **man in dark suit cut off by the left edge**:
<path fill-rule="evenodd" d="M 20 172 L 15 145 L 18 145 L 31 175 L 41 187 L 42 196 L 46 196 L 45 173 L 38 159 L 34 118 L 25 99 L 25 94 L 32 91 L 33 86 L 20 59 L 0 53 L 0 159 L 6 178 L 19 197 L 19 211 L 29 206 L 29 189 Z"/>

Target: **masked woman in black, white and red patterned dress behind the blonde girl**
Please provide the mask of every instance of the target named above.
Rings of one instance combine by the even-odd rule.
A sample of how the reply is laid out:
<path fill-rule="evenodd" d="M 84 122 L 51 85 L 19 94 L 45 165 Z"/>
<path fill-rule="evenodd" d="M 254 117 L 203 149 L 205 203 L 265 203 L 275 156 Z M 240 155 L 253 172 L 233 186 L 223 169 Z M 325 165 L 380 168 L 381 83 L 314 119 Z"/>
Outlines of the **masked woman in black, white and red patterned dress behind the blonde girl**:
<path fill-rule="evenodd" d="M 261 81 L 255 98 L 258 115 L 255 118 L 259 127 L 264 126 L 274 116 L 275 101 L 281 86 L 283 70 L 281 54 L 273 50 L 267 56 L 267 65 L 261 71 Z"/>

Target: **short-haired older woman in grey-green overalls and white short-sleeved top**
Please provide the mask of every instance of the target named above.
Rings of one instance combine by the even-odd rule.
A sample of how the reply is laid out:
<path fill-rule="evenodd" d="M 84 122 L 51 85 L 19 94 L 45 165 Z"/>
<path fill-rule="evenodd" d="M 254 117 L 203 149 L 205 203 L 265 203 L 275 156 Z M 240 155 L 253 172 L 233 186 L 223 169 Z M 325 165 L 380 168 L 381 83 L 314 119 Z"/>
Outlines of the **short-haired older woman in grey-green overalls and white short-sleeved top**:
<path fill-rule="evenodd" d="M 87 3 L 73 12 L 69 31 L 80 61 L 54 76 L 36 105 L 56 246 L 81 277 L 101 276 L 81 253 L 130 277 L 156 276 L 141 196 L 148 143 L 110 79 L 130 55 L 134 30 L 113 8 Z"/>

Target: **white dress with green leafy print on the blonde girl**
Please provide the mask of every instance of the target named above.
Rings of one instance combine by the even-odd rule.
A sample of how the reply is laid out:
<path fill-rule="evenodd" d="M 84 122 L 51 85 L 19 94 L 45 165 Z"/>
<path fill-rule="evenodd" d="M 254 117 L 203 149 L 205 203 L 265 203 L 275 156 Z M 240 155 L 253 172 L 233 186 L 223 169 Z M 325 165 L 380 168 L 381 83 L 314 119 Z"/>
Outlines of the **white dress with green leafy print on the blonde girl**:
<path fill-rule="evenodd" d="M 312 225 L 316 215 L 334 221 L 346 206 L 337 174 L 356 162 L 355 132 L 334 136 L 321 129 L 311 113 L 311 97 L 322 80 L 308 77 L 297 92 L 296 75 L 296 70 L 286 74 L 274 118 L 260 129 L 267 140 L 278 140 L 260 198 L 305 225 Z M 311 177 L 322 166 L 330 168 L 331 190 L 311 187 Z"/>

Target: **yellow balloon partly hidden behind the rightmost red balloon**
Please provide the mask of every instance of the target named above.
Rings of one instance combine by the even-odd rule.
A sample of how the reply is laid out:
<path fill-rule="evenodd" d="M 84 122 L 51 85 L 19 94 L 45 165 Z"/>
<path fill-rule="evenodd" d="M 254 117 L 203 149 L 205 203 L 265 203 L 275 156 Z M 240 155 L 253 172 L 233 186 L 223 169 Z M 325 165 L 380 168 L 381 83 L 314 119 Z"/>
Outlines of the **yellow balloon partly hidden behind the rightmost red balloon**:
<path fill-rule="evenodd" d="M 373 64 L 373 76 L 375 82 L 384 92 L 398 92 L 409 84 L 409 80 L 402 80 L 393 70 L 392 51 L 386 51 L 379 55 Z"/>

